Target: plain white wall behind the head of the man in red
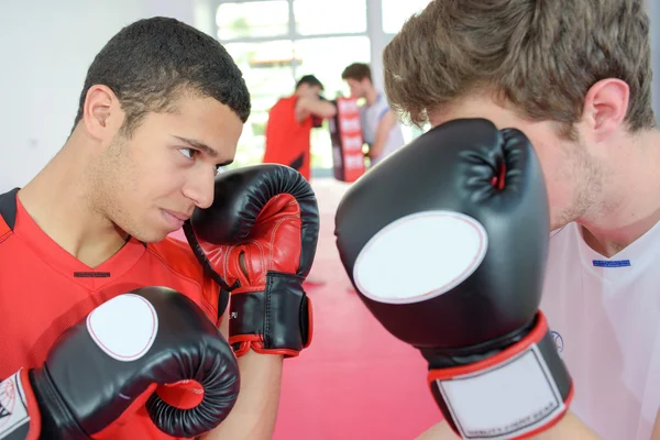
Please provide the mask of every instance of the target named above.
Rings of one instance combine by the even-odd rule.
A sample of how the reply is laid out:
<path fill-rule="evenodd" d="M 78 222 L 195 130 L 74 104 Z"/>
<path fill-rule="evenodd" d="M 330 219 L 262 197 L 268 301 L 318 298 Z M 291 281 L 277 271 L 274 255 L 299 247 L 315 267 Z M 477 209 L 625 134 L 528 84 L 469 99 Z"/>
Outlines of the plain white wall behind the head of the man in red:
<path fill-rule="evenodd" d="M 206 16 L 205 6 L 206 0 L 0 0 L 0 193 L 25 185 L 62 147 L 87 68 L 113 34 L 153 15 L 194 25 L 196 16 Z"/>

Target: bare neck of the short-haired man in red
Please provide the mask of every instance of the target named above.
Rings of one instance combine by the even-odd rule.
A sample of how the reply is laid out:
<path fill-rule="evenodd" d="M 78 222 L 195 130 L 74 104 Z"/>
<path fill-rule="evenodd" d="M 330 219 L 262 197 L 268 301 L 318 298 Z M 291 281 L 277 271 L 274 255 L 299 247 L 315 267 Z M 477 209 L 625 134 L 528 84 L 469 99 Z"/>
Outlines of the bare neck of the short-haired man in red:
<path fill-rule="evenodd" d="M 85 173 L 89 162 L 80 157 L 81 150 L 66 145 L 18 197 L 53 241 L 84 264 L 96 267 L 114 255 L 127 238 L 94 209 Z"/>

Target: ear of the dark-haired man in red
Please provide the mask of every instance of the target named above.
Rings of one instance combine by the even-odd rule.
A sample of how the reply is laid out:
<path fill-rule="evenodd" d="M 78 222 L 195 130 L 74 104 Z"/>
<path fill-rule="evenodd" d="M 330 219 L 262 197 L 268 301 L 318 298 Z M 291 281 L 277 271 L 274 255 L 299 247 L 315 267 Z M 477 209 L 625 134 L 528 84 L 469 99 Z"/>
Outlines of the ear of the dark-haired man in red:
<path fill-rule="evenodd" d="M 82 121 L 92 138 L 113 138 L 123 122 L 123 117 L 119 99 L 108 86 L 95 85 L 87 90 Z"/>

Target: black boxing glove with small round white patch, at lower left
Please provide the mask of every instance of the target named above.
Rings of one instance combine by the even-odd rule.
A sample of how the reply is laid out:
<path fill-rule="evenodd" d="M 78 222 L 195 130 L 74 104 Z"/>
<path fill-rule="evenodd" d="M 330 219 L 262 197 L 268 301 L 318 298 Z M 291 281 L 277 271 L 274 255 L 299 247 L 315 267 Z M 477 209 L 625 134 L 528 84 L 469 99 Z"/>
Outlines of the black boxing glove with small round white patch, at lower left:
<path fill-rule="evenodd" d="M 204 388 L 194 408 L 154 393 L 187 380 Z M 224 420 L 239 387 L 235 356 L 204 311 L 175 290 L 145 287 L 97 307 L 57 339 L 43 366 L 0 384 L 0 439 L 107 438 L 145 402 L 163 432 L 195 437 Z"/>

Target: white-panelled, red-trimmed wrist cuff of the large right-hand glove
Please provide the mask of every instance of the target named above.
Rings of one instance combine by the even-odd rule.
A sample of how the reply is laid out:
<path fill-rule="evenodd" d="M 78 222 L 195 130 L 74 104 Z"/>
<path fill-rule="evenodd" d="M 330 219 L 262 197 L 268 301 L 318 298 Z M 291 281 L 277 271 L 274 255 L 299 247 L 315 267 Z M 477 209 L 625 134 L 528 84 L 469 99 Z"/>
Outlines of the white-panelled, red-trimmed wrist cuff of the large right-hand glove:
<path fill-rule="evenodd" d="M 521 439 L 559 421 L 572 399 L 571 377 L 539 312 L 525 339 L 479 362 L 430 370 L 429 385 L 464 439 Z"/>

